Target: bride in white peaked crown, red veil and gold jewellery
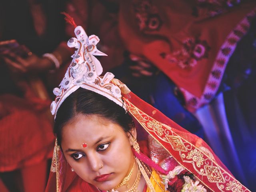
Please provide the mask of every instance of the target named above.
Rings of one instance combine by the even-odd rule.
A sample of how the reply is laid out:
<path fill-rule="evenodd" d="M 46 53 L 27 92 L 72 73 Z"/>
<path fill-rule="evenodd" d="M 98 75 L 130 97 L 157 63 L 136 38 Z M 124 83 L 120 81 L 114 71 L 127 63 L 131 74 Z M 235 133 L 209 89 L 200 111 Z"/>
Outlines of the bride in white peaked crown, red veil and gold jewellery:
<path fill-rule="evenodd" d="M 51 104 L 56 144 L 46 191 L 249 191 L 201 139 L 134 95 L 94 55 L 99 38 L 75 27 L 77 48 Z"/>

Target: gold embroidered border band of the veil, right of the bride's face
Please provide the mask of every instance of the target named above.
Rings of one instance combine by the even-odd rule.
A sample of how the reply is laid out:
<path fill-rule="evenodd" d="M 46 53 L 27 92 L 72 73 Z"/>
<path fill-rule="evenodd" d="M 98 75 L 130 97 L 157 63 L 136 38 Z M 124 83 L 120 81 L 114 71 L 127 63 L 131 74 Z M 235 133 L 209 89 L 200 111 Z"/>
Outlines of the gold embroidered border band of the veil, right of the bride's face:
<path fill-rule="evenodd" d="M 180 160 L 183 163 L 191 163 L 194 171 L 196 171 L 201 177 L 200 179 L 195 175 L 196 178 L 198 178 L 198 180 L 205 184 L 205 186 L 207 186 L 210 190 L 212 190 L 212 188 L 203 182 L 203 180 L 207 179 L 210 183 L 216 183 L 216 188 L 218 188 L 221 192 L 229 191 L 231 184 L 234 184 L 234 182 L 236 183 L 236 186 L 238 186 L 240 192 L 250 192 L 250 190 L 240 184 L 240 182 L 238 182 L 233 176 L 220 167 L 214 160 L 213 156 L 210 156 L 208 153 L 206 154 L 203 150 L 200 150 L 200 148 L 197 148 L 184 138 L 181 138 L 178 134 L 173 132 L 172 128 L 169 126 L 166 127 L 166 125 L 156 121 L 154 118 L 151 118 L 144 112 L 140 111 L 127 99 L 125 99 L 125 101 L 129 112 L 132 114 L 132 116 L 134 116 L 134 118 L 136 118 L 136 120 L 138 120 L 146 131 L 151 136 L 154 134 L 163 142 L 169 143 L 174 151 L 180 152 Z M 134 113 L 135 111 L 136 113 Z M 232 183 L 230 184 L 228 182 Z"/>

